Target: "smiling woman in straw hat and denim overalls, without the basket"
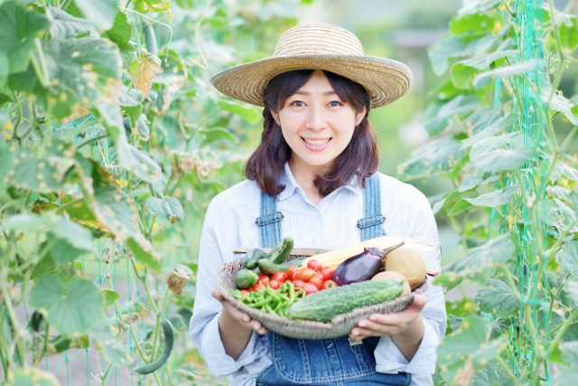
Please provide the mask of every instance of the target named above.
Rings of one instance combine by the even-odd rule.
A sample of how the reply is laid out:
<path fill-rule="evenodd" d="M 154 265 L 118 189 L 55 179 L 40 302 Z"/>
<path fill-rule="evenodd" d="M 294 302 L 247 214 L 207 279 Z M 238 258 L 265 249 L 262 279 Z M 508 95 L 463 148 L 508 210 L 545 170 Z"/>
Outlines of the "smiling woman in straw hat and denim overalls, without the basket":
<path fill-rule="evenodd" d="M 440 287 L 406 310 L 370 315 L 350 336 L 299 340 L 267 332 L 216 289 L 231 248 L 339 249 L 385 235 L 438 244 L 424 194 L 377 173 L 368 112 L 401 97 L 411 83 L 402 63 L 365 56 L 355 35 L 306 24 L 284 33 L 271 58 L 223 71 L 221 92 L 264 106 L 261 144 L 247 181 L 210 203 L 200 240 L 191 336 L 210 372 L 233 385 L 432 384 L 445 332 Z M 440 270 L 439 253 L 425 256 Z"/>

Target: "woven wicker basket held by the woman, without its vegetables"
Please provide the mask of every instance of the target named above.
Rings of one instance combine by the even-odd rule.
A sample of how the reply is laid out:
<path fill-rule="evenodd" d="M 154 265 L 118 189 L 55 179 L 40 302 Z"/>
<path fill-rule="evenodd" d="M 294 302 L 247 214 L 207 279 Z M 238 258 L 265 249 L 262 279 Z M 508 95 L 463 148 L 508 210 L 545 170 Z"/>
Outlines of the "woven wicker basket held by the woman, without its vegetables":
<path fill-rule="evenodd" d="M 331 322 L 314 322 L 309 320 L 293 320 L 285 317 L 271 315 L 257 310 L 256 308 L 245 305 L 235 297 L 232 297 L 228 291 L 237 289 L 235 285 L 235 274 L 245 268 L 242 259 L 231 261 L 220 269 L 217 275 L 217 286 L 220 292 L 233 306 L 250 315 L 253 319 L 261 322 L 275 333 L 289 336 L 292 338 L 303 339 L 329 339 L 337 336 L 350 334 L 351 328 L 358 324 L 359 320 L 368 317 L 371 314 L 391 314 L 405 309 L 412 303 L 414 294 L 421 294 L 429 284 L 427 278 L 414 292 L 405 297 L 397 297 L 384 303 L 374 306 L 359 307 L 347 314 L 335 316 Z"/>

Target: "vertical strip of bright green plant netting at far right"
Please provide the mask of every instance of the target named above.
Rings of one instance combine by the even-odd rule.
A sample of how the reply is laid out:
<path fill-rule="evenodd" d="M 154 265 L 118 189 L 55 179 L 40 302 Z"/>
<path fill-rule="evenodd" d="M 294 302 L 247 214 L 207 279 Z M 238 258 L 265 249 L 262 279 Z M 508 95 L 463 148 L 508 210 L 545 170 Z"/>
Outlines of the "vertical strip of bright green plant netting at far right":
<path fill-rule="evenodd" d="M 519 48 L 518 61 L 540 60 L 544 57 L 540 39 L 544 36 L 542 14 L 542 1 L 520 0 L 516 4 L 516 26 L 517 26 L 517 46 Z M 522 302 L 519 308 L 519 317 L 514 318 L 513 327 L 509 332 L 508 351 L 513 361 L 510 361 L 512 371 L 519 375 L 520 368 L 532 367 L 531 363 L 535 358 L 536 345 L 531 342 L 530 327 L 527 324 L 526 312 L 527 304 L 530 305 L 533 315 L 533 324 L 540 328 L 540 334 L 544 334 L 547 325 L 539 324 L 538 309 L 542 307 L 544 321 L 549 312 L 549 299 L 539 299 L 536 293 L 530 293 L 529 288 L 537 288 L 541 273 L 545 268 L 546 261 L 538 256 L 536 243 L 545 244 L 545 237 L 534 240 L 533 234 L 539 230 L 545 230 L 545 224 L 538 219 L 544 216 L 537 216 L 536 211 L 531 212 L 528 205 L 531 202 L 543 202 L 545 200 L 545 175 L 548 168 L 545 160 L 540 160 L 545 150 L 545 127 L 546 108 L 540 92 L 545 88 L 547 79 L 545 73 L 538 71 L 538 61 L 536 69 L 527 71 L 523 75 L 516 76 L 514 80 L 514 92 L 512 99 L 512 113 L 517 114 L 517 125 L 513 127 L 516 131 L 522 131 L 524 144 L 533 150 L 533 156 L 528 158 L 513 183 L 521 184 L 524 187 L 527 198 L 520 197 L 517 201 L 517 210 L 522 213 L 524 226 L 520 229 L 513 227 L 513 239 L 516 245 L 516 259 L 511 265 L 512 274 L 518 278 L 519 293 L 527 299 Z M 534 213 L 534 216 L 532 216 Z M 535 217 L 535 218 L 531 218 Z M 546 346 L 547 349 L 547 346 Z M 550 374 L 547 365 L 545 366 L 545 384 L 550 384 Z"/>

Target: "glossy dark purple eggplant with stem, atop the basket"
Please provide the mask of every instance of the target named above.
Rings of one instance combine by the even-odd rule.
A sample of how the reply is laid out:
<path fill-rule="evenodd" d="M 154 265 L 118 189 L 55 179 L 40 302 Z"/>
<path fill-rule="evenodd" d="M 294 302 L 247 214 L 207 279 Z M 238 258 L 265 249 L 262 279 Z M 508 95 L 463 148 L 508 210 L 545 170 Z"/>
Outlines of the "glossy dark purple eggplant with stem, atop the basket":
<path fill-rule="evenodd" d="M 404 244 L 405 242 L 401 241 L 399 244 L 386 249 L 364 248 L 359 255 L 350 257 L 335 268 L 333 281 L 339 286 L 343 286 L 373 278 L 383 268 L 387 253 Z"/>

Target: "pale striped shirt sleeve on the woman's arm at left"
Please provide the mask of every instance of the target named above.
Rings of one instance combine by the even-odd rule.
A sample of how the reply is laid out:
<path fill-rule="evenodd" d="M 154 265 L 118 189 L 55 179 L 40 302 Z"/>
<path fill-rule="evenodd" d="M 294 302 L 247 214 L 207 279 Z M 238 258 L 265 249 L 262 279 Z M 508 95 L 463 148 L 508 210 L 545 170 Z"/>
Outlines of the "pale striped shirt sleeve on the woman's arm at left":
<path fill-rule="evenodd" d="M 250 378 L 271 364 L 268 358 L 268 345 L 265 342 L 266 336 L 259 336 L 254 332 L 245 351 L 235 361 L 225 353 L 220 339 L 219 315 L 222 306 L 210 295 L 213 288 L 217 287 L 217 274 L 225 263 L 219 249 L 221 239 L 219 231 L 228 232 L 229 237 L 231 235 L 230 230 L 223 230 L 223 223 L 226 221 L 219 221 L 219 227 L 216 226 L 217 219 L 222 220 L 223 215 L 224 212 L 220 210 L 219 205 L 213 205 L 211 202 L 200 236 L 197 292 L 190 325 L 191 339 L 212 374 L 233 378 L 242 375 L 241 378 Z M 225 236 L 224 239 L 228 238 Z"/>

